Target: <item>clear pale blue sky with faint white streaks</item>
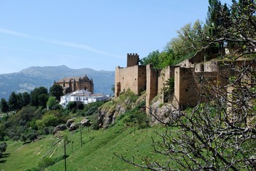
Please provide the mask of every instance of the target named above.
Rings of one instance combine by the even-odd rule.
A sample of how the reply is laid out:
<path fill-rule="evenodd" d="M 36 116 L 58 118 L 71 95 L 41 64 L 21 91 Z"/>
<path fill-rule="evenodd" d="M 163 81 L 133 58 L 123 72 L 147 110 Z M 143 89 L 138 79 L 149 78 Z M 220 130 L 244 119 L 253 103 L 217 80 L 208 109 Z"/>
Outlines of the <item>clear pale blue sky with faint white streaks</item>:
<path fill-rule="evenodd" d="M 0 0 L 0 74 L 61 65 L 115 71 L 127 53 L 162 51 L 207 11 L 208 0 Z"/>

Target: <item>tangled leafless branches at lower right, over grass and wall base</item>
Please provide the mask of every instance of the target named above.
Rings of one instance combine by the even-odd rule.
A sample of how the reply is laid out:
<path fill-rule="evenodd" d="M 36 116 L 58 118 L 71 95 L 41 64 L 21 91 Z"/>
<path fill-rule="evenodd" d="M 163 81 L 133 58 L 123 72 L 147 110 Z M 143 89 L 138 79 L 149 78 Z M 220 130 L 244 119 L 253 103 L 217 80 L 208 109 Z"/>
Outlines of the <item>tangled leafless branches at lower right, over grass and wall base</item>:
<path fill-rule="evenodd" d="M 165 122 L 153 115 L 165 130 L 153 140 L 161 161 L 143 159 L 144 165 L 123 155 L 122 160 L 149 170 L 253 170 L 256 168 L 255 59 L 228 64 L 227 86 L 203 80 L 195 108 L 178 110 Z"/>

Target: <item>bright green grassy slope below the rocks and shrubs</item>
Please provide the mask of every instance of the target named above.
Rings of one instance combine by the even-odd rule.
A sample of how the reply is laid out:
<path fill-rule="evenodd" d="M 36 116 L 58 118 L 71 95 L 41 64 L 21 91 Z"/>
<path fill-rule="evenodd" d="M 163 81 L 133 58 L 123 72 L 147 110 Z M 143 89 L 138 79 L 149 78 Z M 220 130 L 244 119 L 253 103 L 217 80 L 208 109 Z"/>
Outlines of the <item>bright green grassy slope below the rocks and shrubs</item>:
<path fill-rule="evenodd" d="M 118 159 L 113 153 L 130 159 L 135 156 L 138 162 L 144 157 L 160 159 L 153 152 L 151 137 L 157 138 L 155 130 L 162 129 L 155 126 L 148 128 L 148 131 L 136 129 L 134 133 L 134 128 L 118 124 L 104 131 L 83 128 L 82 147 L 80 130 L 76 133 L 65 131 L 64 134 L 68 137 L 67 170 L 141 170 Z M 9 141 L 6 154 L 0 159 L 0 170 L 35 170 L 41 160 L 48 157 L 51 160 L 60 159 L 63 152 L 63 140 L 57 136 L 48 135 L 26 145 Z M 64 170 L 64 160 L 59 160 L 45 170 Z"/>

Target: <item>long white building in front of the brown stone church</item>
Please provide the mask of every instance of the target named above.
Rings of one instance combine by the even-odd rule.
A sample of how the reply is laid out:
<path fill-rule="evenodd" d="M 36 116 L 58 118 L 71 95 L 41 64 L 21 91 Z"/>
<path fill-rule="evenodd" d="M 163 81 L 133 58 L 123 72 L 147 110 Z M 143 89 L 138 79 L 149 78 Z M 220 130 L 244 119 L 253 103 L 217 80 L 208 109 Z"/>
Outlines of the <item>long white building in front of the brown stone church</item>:
<path fill-rule="evenodd" d="M 72 93 L 68 93 L 66 95 L 61 96 L 61 105 L 63 108 L 66 108 L 68 102 L 80 102 L 83 105 L 88 103 L 93 103 L 97 101 L 108 100 L 110 98 L 109 95 L 103 94 L 91 94 L 91 92 L 87 90 L 76 90 Z"/>

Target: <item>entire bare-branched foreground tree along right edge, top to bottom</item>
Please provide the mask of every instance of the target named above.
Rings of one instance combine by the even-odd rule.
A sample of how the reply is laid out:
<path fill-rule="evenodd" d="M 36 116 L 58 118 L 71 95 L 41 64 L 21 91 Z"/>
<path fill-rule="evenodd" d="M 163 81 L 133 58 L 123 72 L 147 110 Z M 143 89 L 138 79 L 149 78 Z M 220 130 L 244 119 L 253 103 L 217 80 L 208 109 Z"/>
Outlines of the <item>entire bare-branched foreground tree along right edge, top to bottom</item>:
<path fill-rule="evenodd" d="M 227 16 L 220 11 L 218 17 L 230 17 L 231 26 L 222 27 L 217 36 L 203 29 L 200 32 L 200 41 L 208 42 L 203 48 L 220 41 L 235 43 L 235 56 L 225 56 L 229 60 L 222 63 L 229 73 L 223 80 L 226 84 L 214 85 L 201 79 L 200 99 L 206 103 L 199 101 L 195 108 L 177 109 L 168 122 L 153 115 L 165 125 L 158 133 L 160 140 L 153 140 L 154 151 L 164 160 L 145 157 L 138 163 L 134 157 L 116 156 L 149 170 L 255 170 L 255 2 L 233 1 L 231 13 Z"/>

